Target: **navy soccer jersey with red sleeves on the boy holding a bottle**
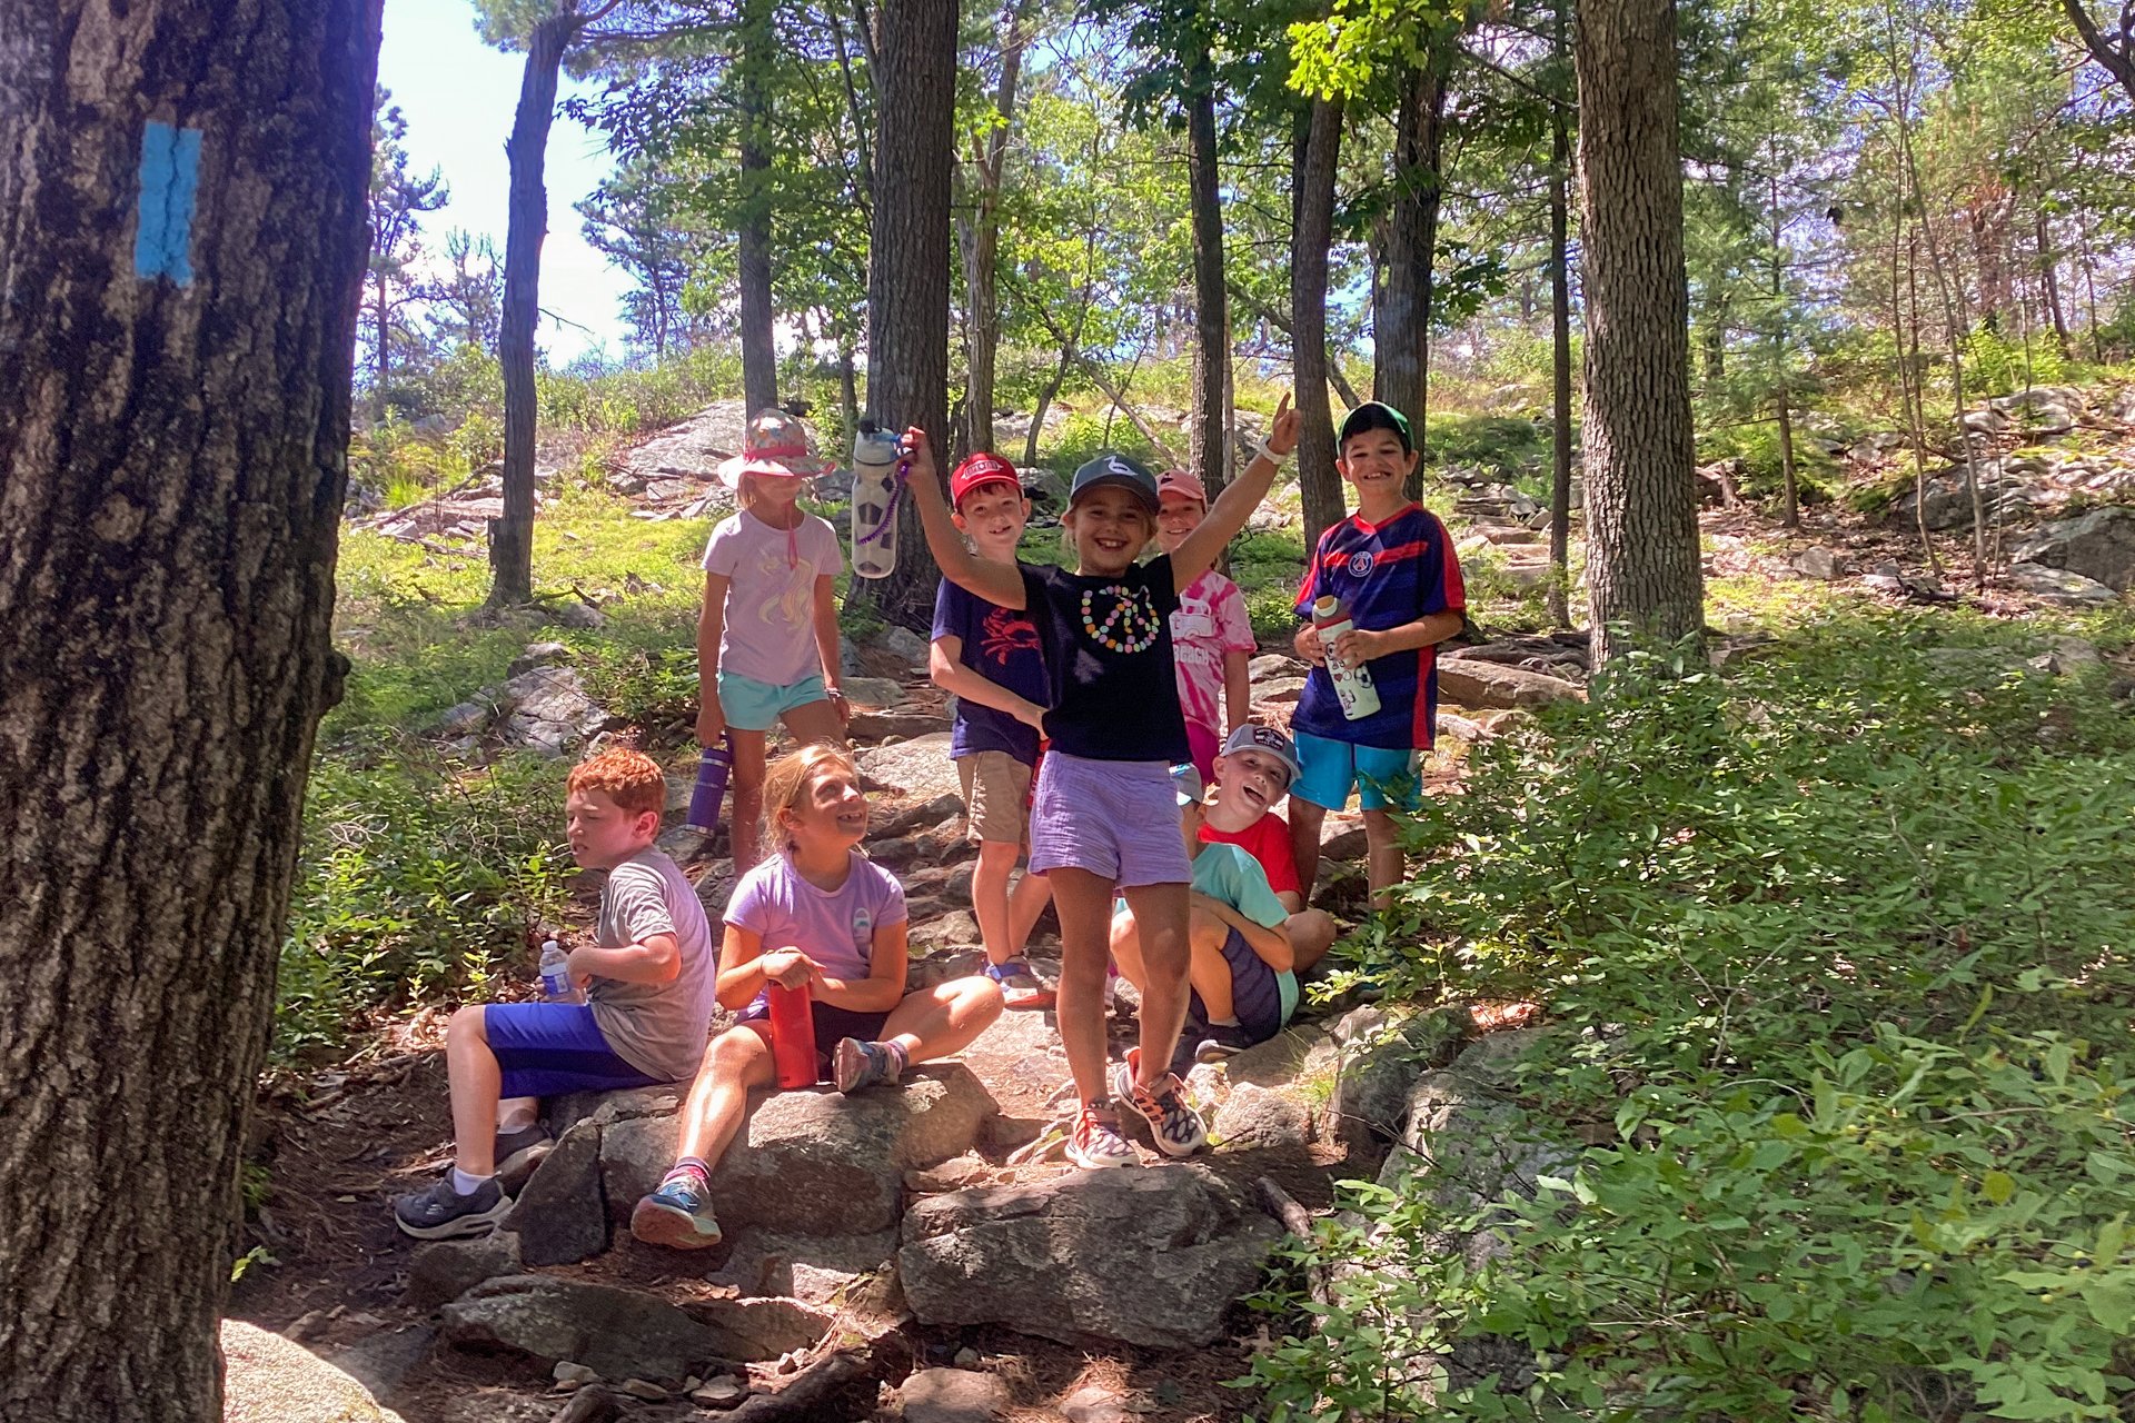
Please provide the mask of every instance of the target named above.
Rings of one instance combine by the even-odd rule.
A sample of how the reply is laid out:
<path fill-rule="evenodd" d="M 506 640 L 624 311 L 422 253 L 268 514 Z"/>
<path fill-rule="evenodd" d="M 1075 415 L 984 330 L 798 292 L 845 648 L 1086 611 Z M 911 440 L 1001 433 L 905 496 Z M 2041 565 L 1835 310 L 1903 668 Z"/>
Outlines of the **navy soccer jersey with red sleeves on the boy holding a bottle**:
<path fill-rule="evenodd" d="M 1377 525 L 1351 514 L 1322 533 L 1304 570 L 1304 587 L 1298 589 L 1298 617 L 1311 621 L 1313 602 L 1330 593 L 1341 599 L 1349 621 L 1366 631 L 1467 608 L 1452 538 L 1437 514 L 1420 503 Z M 1349 721 L 1334 698 L 1334 678 L 1326 668 L 1313 668 L 1304 678 L 1298 713 L 1290 719 L 1292 730 L 1383 751 L 1428 749 L 1439 710 L 1437 649 L 1388 653 L 1373 657 L 1366 668 L 1379 691 L 1379 710 Z"/>

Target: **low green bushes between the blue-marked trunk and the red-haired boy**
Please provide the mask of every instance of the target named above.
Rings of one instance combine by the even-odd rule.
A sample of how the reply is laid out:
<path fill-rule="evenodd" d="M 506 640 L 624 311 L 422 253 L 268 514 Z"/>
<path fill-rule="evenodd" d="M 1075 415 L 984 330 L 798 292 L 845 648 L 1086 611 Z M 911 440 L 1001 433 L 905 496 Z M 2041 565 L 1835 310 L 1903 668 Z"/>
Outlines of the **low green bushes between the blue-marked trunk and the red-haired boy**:
<path fill-rule="evenodd" d="M 480 988 L 557 909 L 559 762 L 485 768 L 380 734 L 376 764 L 320 757 L 275 1003 L 275 1056 L 339 1045 L 376 1007 Z"/>

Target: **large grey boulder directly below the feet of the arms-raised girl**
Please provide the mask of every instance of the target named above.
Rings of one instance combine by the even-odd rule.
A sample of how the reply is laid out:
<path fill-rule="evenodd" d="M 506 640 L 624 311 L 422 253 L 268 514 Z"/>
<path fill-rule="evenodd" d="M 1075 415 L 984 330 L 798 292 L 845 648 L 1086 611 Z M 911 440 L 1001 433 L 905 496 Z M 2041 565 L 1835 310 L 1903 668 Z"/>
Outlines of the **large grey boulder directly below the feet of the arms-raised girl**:
<path fill-rule="evenodd" d="M 1200 1165 L 976 1186 L 905 1216 L 897 1278 L 927 1325 L 1202 1348 L 1279 1229 Z"/>

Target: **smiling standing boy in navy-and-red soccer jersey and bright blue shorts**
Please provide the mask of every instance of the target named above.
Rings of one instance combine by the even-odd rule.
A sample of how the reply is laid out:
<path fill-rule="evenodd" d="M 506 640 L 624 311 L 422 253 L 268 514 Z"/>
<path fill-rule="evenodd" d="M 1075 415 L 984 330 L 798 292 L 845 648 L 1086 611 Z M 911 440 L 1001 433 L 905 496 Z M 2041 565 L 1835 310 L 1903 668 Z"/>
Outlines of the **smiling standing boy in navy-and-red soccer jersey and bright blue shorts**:
<path fill-rule="evenodd" d="M 1392 405 L 1364 401 L 1341 425 L 1334 467 L 1356 486 L 1356 514 L 1319 535 L 1304 570 L 1296 612 L 1341 599 L 1351 629 L 1334 653 L 1371 670 L 1379 710 L 1351 721 L 1334 698 L 1328 649 L 1304 621 L 1298 657 L 1313 663 L 1290 721 L 1302 774 L 1290 785 L 1290 836 L 1298 877 L 1311 894 L 1319 873 L 1319 826 L 1358 792 L 1364 809 L 1371 902 L 1383 909 L 1401 879 L 1394 811 L 1420 802 L 1418 753 L 1430 749 L 1439 706 L 1437 644 L 1460 631 L 1467 593 L 1460 559 L 1439 518 L 1407 497 L 1416 469 L 1409 420 Z"/>

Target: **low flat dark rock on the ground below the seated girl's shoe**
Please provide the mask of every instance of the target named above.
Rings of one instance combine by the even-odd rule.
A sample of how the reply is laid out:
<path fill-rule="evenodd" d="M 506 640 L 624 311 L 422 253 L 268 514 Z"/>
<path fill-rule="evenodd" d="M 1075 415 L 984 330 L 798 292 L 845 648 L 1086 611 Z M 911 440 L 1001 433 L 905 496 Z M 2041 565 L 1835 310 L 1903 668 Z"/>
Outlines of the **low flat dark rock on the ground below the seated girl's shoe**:
<path fill-rule="evenodd" d="M 444 1306 L 455 1348 L 583 1363 L 602 1378 L 687 1378 L 754 1353 L 666 1299 L 553 1276 L 489 1280 Z"/>

